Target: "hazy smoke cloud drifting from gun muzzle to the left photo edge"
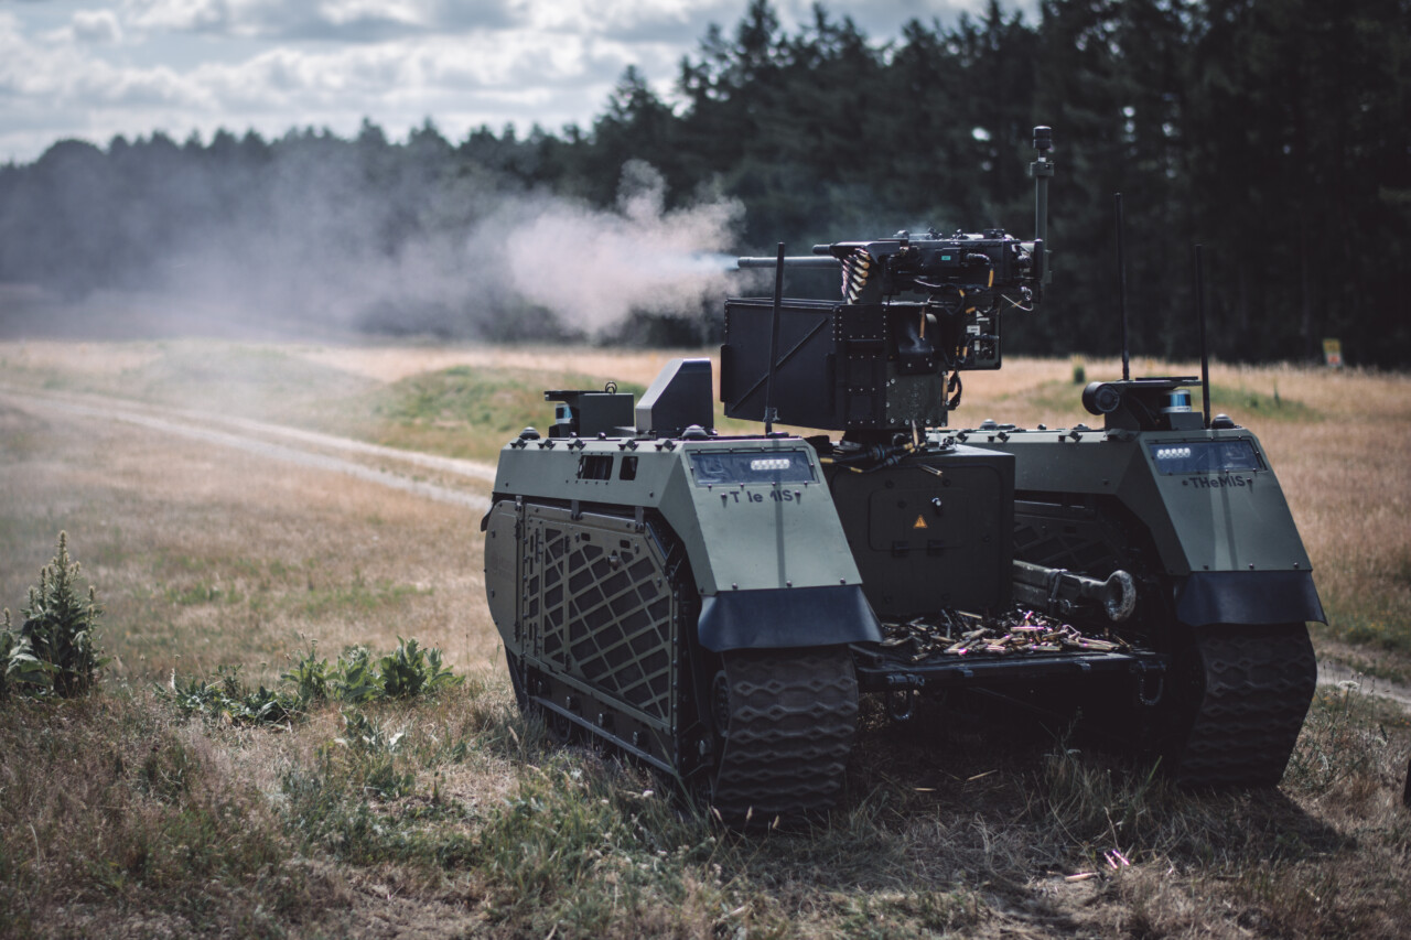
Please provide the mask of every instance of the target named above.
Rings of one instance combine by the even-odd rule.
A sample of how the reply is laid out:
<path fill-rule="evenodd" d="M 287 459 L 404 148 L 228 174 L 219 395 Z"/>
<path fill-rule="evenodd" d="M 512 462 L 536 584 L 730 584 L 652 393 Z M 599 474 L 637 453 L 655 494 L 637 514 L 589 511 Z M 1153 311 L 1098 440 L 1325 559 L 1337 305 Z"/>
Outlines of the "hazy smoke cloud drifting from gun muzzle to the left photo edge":
<path fill-rule="evenodd" d="M 0 335 L 598 337 L 642 313 L 708 316 L 739 287 L 724 253 L 741 203 L 667 209 L 646 164 L 602 210 L 449 151 L 388 171 L 360 144 L 302 137 L 219 172 L 189 147 L 123 165 L 116 144 L 75 144 L 4 168 Z"/>

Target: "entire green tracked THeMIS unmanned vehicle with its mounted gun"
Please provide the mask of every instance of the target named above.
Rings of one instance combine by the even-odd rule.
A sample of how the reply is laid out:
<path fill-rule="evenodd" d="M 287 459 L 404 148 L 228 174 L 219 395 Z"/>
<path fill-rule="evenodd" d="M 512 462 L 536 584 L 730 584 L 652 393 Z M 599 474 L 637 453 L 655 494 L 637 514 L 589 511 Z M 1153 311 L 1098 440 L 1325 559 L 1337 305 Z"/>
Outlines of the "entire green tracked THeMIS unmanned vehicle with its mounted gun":
<path fill-rule="evenodd" d="M 1177 782 L 1278 782 L 1322 607 L 1208 375 L 1092 382 L 1099 428 L 947 429 L 961 373 L 1000 367 L 1002 315 L 1048 281 L 1047 127 L 1034 147 L 1033 240 L 741 258 L 775 295 L 725 303 L 720 394 L 762 433 L 714 429 L 710 360 L 673 360 L 641 401 L 545 392 L 555 423 L 504 447 L 481 526 L 522 709 L 737 824 L 837 799 L 861 694 L 895 720 L 959 689 L 1081 701 Z M 782 298 L 789 267 L 837 271 L 841 298 Z"/>

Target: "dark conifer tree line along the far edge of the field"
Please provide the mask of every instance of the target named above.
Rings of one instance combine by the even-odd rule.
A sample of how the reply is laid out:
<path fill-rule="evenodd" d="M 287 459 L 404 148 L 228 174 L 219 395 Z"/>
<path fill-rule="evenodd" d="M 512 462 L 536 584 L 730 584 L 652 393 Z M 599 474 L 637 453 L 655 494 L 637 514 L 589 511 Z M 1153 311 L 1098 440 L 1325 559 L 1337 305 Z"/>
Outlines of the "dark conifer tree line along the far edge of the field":
<path fill-rule="evenodd" d="M 1030 236 L 1031 128 L 1048 124 L 1055 277 L 1041 312 L 1009 318 L 1012 351 L 1116 351 L 1122 192 L 1136 354 L 1197 354 L 1201 243 L 1216 356 L 1312 358 L 1338 337 L 1353 363 L 1404 366 L 1407 23 L 1411 0 L 1044 0 L 1033 21 L 992 0 L 878 38 L 823 6 L 789 31 L 751 0 L 683 58 L 673 96 L 629 68 L 587 127 L 61 141 L 0 168 L 0 281 L 133 288 L 192 241 L 246 255 L 274 229 L 396 257 L 450 246 L 505 193 L 611 209 L 629 161 L 656 168 L 666 209 L 739 200 L 741 253 L 897 229 Z M 233 220 L 240 243 L 222 234 Z M 457 330 L 454 309 L 437 318 Z"/>

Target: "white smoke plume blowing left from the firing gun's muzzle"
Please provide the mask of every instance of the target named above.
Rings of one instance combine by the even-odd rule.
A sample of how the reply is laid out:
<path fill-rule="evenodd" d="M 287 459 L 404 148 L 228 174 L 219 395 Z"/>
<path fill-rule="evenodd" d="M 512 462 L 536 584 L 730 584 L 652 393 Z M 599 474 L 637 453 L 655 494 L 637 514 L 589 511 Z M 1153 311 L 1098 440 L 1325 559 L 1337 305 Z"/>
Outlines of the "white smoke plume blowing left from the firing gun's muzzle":
<path fill-rule="evenodd" d="M 241 198 L 220 202 L 212 183 L 174 175 L 162 196 L 181 227 L 171 210 L 135 227 L 145 239 L 169 229 L 155 261 L 134 255 L 96 289 L 31 291 L 24 309 L 10 291 L 0 336 L 598 337 L 635 313 L 700 318 L 742 287 L 721 254 L 741 203 L 667 210 L 660 174 L 642 162 L 624 167 L 611 210 L 492 171 L 382 191 L 332 158 L 277 159 L 231 185 Z M 114 203 L 93 217 L 133 213 Z M 128 222 L 85 230 L 96 244 L 143 244 Z"/>

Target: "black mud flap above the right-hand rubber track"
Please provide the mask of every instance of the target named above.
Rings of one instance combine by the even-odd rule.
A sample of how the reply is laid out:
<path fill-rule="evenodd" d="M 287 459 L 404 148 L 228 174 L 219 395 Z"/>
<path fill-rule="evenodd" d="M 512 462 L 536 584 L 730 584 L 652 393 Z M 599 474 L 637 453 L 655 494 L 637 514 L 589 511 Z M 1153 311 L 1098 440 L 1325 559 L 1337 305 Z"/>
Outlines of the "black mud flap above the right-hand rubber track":
<path fill-rule="evenodd" d="M 1195 572 L 1181 589 L 1182 624 L 1326 624 L 1311 572 Z"/>

